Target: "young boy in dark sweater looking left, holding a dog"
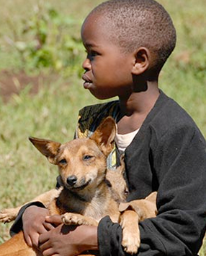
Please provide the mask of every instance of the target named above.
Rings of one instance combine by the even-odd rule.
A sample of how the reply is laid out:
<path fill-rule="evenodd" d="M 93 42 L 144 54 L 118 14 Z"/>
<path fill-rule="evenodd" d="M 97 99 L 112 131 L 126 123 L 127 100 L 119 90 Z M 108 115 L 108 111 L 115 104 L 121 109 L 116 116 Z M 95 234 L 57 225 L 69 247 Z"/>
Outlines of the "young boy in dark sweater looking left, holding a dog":
<path fill-rule="evenodd" d="M 128 200 L 158 191 L 156 218 L 140 223 L 138 255 L 197 255 L 206 224 L 206 142 L 188 114 L 158 89 L 158 75 L 174 50 L 176 32 L 154 0 L 111 0 L 96 7 L 82 26 L 87 57 L 84 88 L 96 98 L 118 101 L 79 113 L 76 137 L 89 136 L 105 116 L 117 121 L 109 167 L 125 153 Z M 59 216 L 35 205 L 22 210 L 28 244 L 43 255 L 125 255 L 121 228 L 109 217 L 98 228 L 63 226 Z M 21 218 L 22 216 L 22 218 Z"/>

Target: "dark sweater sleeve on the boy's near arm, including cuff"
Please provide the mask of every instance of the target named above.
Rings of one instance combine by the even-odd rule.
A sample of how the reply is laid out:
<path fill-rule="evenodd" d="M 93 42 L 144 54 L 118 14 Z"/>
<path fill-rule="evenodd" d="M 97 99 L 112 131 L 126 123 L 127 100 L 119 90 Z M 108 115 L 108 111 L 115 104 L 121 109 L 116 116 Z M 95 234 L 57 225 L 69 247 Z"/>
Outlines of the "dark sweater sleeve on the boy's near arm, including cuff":
<path fill-rule="evenodd" d="M 140 222 L 138 255 L 197 255 L 206 226 L 205 140 L 196 127 L 184 126 L 170 129 L 153 145 L 158 215 Z M 108 218 L 99 223 L 101 256 L 124 255 L 120 233 Z"/>

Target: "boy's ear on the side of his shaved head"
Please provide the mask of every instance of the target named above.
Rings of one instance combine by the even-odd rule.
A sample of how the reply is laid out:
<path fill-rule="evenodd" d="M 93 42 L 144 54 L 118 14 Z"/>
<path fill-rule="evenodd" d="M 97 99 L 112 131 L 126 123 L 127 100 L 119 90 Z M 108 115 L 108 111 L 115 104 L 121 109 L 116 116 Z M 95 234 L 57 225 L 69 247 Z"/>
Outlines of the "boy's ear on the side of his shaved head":
<path fill-rule="evenodd" d="M 140 47 L 135 51 L 135 63 L 133 65 L 132 74 L 143 74 L 143 72 L 148 69 L 151 59 L 150 55 L 150 51 L 145 47 Z"/>

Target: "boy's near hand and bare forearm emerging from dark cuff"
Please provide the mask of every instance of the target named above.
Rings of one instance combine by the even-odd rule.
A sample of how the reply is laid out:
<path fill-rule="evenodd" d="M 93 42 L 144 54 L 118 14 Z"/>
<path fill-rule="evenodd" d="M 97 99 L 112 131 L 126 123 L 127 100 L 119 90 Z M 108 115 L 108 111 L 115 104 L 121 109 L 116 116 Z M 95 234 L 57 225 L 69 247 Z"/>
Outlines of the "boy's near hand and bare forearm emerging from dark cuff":
<path fill-rule="evenodd" d="M 79 255 L 87 249 L 98 249 L 97 227 L 66 226 L 61 224 L 55 229 L 40 234 L 39 242 L 39 248 L 44 256 Z"/>

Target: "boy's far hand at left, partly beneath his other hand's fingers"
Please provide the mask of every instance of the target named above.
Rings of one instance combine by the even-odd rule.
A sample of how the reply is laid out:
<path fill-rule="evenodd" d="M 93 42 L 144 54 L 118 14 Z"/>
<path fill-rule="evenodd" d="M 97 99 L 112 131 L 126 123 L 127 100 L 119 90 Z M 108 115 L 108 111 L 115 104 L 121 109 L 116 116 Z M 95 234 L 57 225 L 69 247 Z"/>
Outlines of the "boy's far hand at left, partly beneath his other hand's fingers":
<path fill-rule="evenodd" d="M 22 216 L 24 239 L 30 247 L 38 247 L 39 236 L 50 229 L 53 225 L 45 222 L 48 210 L 35 205 L 28 207 Z"/>

